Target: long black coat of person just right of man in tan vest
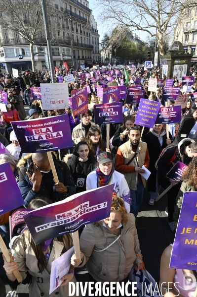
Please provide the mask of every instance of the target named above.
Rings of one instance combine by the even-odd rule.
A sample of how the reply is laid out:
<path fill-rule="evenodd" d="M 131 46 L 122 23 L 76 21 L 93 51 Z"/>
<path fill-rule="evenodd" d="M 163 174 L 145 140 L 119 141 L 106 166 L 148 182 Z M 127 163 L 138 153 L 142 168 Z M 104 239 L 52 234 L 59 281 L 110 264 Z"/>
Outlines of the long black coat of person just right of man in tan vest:
<path fill-rule="evenodd" d="M 160 145 L 158 137 L 154 135 L 151 131 L 146 135 L 145 138 L 145 142 L 147 143 L 147 148 L 150 157 L 149 171 L 151 172 L 151 175 L 148 179 L 148 190 L 152 192 L 156 191 L 157 182 L 157 169 L 155 168 L 155 164 L 162 150 L 167 146 L 166 138 L 166 131 L 165 134 L 162 136 L 162 145 Z M 169 138 L 172 141 L 172 135 L 170 133 Z"/>

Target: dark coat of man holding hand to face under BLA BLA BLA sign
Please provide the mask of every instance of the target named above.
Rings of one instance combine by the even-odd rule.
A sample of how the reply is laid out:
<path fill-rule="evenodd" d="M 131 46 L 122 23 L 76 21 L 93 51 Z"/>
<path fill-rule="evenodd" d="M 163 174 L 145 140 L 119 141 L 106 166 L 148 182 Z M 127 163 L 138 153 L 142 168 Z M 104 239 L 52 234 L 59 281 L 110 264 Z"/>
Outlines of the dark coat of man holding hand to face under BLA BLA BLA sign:
<path fill-rule="evenodd" d="M 64 185 L 68 187 L 67 193 L 60 193 L 55 190 L 55 180 L 53 178 L 53 202 L 58 202 L 66 199 L 67 197 L 75 194 L 76 192 L 76 186 L 74 183 L 74 180 L 71 176 L 71 172 L 68 168 L 68 166 L 63 162 L 56 160 L 53 157 L 55 169 L 57 172 L 57 176 L 59 179 L 59 182 L 62 182 Z M 24 158 L 22 158 L 18 163 L 19 168 L 19 188 L 21 191 L 21 194 L 23 196 L 23 199 L 25 201 L 25 206 L 27 206 L 30 201 L 37 197 L 50 197 L 49 189 L 47 184 L 45 183 L 44 179 L 42 178 L 39 192 L 34 192 L 32 190 L 33 183 L 29 180 L 28 175 L 26 174 L 29 165 L 32 163 L 32 157 L 31 155 L 27 155 Z M 32 174 L 32 173 L 31 173 Z M 44 174 L 42 174 L 44 175 Z"/>

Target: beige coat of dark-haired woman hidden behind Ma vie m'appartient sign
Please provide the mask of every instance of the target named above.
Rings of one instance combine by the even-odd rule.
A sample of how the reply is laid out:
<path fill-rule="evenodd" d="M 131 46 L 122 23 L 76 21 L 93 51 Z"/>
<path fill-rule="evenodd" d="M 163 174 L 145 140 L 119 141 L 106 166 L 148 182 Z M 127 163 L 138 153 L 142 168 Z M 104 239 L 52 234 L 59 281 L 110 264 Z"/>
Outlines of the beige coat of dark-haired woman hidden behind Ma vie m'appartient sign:
<path fill-rule="evenodd" d="M 26 232 L 24 232 L 24 234 L 26 234 Z M 18 264 L 18 270 L 23 279 L 26 278 L 27 271 L 32 275 L 32 280 L 29 285 L 29 297 L 49 297 L 51 262 L 60 257 L 64 245 L 60 241 L 53 240 L 53 247 L 47 265 L 44 271 L 40 273 L 38 260 L 27 237 L 25 237 L 25 242 L 27 248 L 24 251 L 22 236 L 12 238 L 12 252 L 15 258 L 14 261 Z M 66 249 L 68 250 L 68 246 L 66 246 Z M 76 283 L 75 276 L 72 282 Z M 69 286 L 57 288 L 51 293 L 50 297 L 56 297 L 57 295 L 59 297 L 69 296 Z"/>

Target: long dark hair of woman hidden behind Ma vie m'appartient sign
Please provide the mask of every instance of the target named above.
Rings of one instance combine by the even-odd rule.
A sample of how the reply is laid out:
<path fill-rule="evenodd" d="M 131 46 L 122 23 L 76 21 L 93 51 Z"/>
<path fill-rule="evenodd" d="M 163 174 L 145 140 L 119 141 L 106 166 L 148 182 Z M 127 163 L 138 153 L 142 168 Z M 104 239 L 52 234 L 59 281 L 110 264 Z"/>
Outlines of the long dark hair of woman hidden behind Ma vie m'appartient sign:
<path fill-rule="evenodd" d="M 45 198 L 45 197 L 40 197 L 40 198 L 36 198 L 36 199 L 33 199 L 29 205 L 28 205 L 28 208 L 31 208 L 31 209 L 38 209 L 42 206 L 46 206 L 48 204 L 51 204 L 52 201 L 49 200 L 48 198 Z M 35 244 L 34 243 L 34 240 L 29 232 L 29 230 L 25 230 L 24 234 L 27 236 L 28 238 L 28 241 L 30 242 L 32 248 L 33 248 L 33 251 L 36 255 L 36 258 L 38 260 L 38 268 L 39 268 L 39 273 L 42 273 L 46 267 L 46 264 L 47 264 L 47 261 L 46 261 L 46 257 L 43 253 L 43 246 L 44 246 L 44 242 L 41 242 L 39 244 Z M 63 243 L 64 247 L 63 247 L 63 250 L 62 250 L 62 254 L 66 252 L 66 246 L 68 246 L 68 248 L 71 248 L 72 245 L 73 245 L 73 241 L 72 241 L 72 238 L 71 238 L 71 235 L 70 234 L 65 234 L 65 235 L 62 235 L 62 236 L 58 236 L 58 238 L 54 238 L 54 240 L 56 241 L 60 241 Z"/>

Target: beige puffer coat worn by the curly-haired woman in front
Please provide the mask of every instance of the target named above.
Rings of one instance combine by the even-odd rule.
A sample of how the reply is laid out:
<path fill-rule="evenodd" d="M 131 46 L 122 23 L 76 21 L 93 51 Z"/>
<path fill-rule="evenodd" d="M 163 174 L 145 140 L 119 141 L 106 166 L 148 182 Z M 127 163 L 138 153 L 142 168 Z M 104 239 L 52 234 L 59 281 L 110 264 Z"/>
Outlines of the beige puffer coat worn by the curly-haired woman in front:
<path fill-rule="evenodd" d="M 79 239 L 83 262 L 79 267 L 86 264 L 87 271 L 97 282 L 119 282 L 128 276 L 134 263 L 142 262 L 135 217 L 128 214 L 128 222 L 120 228 L 116 242 L 118 235 L 108 231 L 103 223 L 89 224 L 83 229 Z M 100 251 L 111 243 L 109 248 Z"/>

